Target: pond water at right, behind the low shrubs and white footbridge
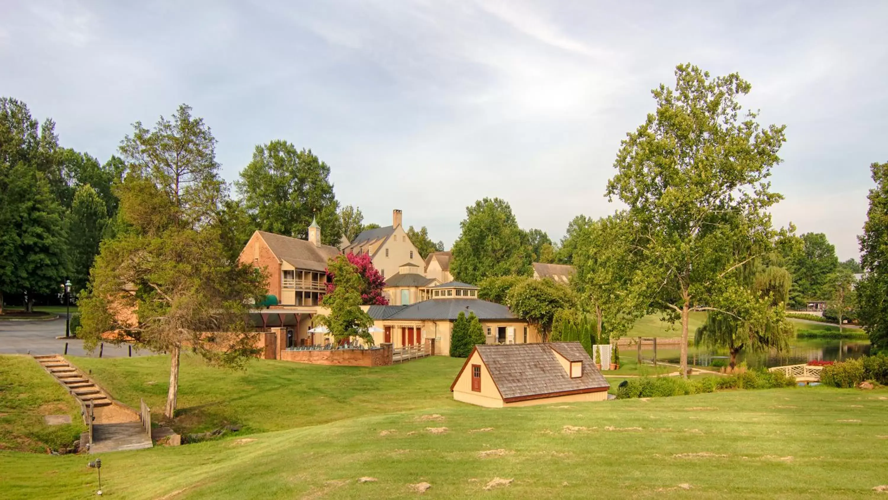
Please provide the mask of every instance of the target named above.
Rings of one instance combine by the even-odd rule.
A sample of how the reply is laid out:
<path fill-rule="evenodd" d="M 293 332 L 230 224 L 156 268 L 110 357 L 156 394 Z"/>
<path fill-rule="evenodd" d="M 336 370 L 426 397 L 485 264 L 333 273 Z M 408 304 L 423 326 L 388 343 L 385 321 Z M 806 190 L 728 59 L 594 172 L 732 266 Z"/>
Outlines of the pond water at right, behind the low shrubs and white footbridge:
<path fill-rule="evenodd" d="M 670 346 L 671 347 L 671 346 Z M 628 350 L 627 353 L 635 353 Z M 821 338 L 792 338 L 789 340 L 789 348 L 778 353 L 773 350 L 768 353 L 740 353 L 738 361 L 746 361 L 749 368 L 782 365 L 803 364 L 808 361 L 844 361 L 851 358 L 859 358 L 869 353 L 869 342 L 866 340 L 831 340 Z M 654 352 L 652 349 L 642 349 L 642 357 L 650 360 Z M 657 349 L 657 360 L 678 363 L 678 348 Z M 727 349 L 707 349 L 705 347 L 688 346 L 687 357 L 689 362 L 699 365 L 709 365 L 713 358 L 726 360 Z M 622 356 L 621 356 L 622 357 Z M 695 361 L 694 361 L 695 360 Z"/>

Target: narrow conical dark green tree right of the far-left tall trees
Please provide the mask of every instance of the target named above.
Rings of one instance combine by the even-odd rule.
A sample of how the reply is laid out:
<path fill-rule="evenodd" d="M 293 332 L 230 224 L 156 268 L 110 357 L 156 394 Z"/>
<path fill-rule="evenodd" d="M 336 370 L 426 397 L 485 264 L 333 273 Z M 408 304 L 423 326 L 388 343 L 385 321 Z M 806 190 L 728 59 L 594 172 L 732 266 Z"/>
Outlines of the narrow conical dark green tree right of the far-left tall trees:
<path fill-rule="evenodd" d="M 76 292 L 85 289 L 90 280 L 92 261 L 99 255 L 107 221 L 107 205 L 99 193 L 89 184 L 79 187 L 67 218 L 71 283 Z"/>

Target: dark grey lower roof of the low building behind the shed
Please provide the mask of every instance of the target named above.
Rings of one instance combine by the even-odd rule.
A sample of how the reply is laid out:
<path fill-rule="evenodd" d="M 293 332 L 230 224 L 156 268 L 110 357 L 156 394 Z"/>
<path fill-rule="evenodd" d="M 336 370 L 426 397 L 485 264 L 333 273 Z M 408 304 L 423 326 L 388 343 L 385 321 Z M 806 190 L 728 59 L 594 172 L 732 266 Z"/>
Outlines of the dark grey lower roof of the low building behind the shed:
<path fill-rule="evenodd" d="M 395 311 L 393 307 L 399 309 Z M 456 320 L 460 312 L 475 313 L 479 320 L 511 320 L 509 308 L 479 298 L 447 298 L 417 302 L 410 306 L 370 306 L 367 313 L 374 320 Z"/>

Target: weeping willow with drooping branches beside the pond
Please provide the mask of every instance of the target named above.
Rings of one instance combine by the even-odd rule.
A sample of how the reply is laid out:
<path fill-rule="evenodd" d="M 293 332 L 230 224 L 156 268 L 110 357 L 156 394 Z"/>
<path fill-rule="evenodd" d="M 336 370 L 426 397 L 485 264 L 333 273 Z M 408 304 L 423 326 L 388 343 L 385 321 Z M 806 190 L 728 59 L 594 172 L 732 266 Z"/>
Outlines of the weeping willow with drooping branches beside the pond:
<path fill-rule="evenodd" d="M 694 335 L 695 345 L 726 348 L 731 356 L 731 369 L 737 366 L 737 355 L 742 350 L 782 350 L 792 334 L 784 314 L 792 276 L 777 265 L 776 258 L 757 258 L 743 266 L 741 284 L 738 292 L 749 296 L 742 301 L 743 310 L 736 314 L 708 313 L 706 322 Z"/>

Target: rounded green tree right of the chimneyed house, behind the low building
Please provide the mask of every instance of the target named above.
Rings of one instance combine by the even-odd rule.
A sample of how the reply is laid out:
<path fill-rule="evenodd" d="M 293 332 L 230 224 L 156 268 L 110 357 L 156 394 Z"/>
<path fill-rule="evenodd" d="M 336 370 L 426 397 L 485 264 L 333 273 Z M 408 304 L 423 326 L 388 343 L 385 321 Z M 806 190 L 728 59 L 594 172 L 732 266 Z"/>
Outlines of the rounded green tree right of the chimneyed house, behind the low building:
<path fill-rule="evenodd" d="M 465 212 L 452 250 L 454 279 L 477 283 L 488 276 L 531 274 L 530 247 L 508 202 L 484 198 Z"/>

